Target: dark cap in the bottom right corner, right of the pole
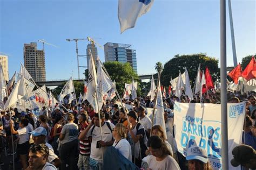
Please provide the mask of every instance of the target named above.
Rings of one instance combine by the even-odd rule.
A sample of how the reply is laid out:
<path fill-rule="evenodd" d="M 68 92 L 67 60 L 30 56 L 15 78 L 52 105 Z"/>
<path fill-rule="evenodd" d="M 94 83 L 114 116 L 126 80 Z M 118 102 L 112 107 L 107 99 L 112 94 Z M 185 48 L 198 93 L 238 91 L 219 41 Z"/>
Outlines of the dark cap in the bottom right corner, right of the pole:
<path fill-rule="evenodd" d="M 230 161 L 231 165 L 237 167 L 246 164 L 250 159 L 256 158 L 255 150 L 248 145 L 238 145 L 232 150 L 234 158 Z"/>

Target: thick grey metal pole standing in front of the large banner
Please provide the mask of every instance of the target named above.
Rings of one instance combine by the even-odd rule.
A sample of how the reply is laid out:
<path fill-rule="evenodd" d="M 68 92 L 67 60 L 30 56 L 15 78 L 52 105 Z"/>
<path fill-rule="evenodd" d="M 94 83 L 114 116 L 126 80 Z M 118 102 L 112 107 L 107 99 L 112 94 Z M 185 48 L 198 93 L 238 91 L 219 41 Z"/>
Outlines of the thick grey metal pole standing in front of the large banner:
<path fill-rule="evenodd" d="M 220 98 L 221 98 L 221 159 L 222 169 L 228 169 L 227 138 L 227 59 L 226 59 L 226 1 L 220 0 Z"/>

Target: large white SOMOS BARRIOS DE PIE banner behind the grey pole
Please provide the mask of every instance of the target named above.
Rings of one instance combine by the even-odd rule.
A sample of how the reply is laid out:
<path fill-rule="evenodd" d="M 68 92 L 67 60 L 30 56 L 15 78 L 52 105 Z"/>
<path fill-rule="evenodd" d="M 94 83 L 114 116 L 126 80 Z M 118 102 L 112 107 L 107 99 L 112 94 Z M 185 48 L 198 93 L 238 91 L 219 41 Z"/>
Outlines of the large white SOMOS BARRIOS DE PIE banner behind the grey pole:
<path fill-rule="evenodd" d="M 178 151 L 184 156 L 187 149 L 197 145 L 204 148 L 213 169 L 221 169 L 221 105 L 200 103 L 175 103 L 174 126 Z M 245 102 L 227 104 L 228 116 L 228 162 L 232 150 L 241 144 L 245 117 Z"/>

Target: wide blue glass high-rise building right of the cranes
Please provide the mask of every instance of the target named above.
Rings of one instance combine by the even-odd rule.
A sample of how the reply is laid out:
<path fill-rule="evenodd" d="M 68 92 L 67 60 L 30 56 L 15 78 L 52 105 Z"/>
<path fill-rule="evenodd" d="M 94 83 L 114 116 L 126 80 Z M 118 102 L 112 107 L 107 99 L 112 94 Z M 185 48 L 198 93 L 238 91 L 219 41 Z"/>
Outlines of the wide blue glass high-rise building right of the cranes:
<path fill-rule="evenodd" d="M 136 49 L 131 49 L 129 44 L 107 42 L 104 45 L 105 61 L 129 62 L 137 73 Z"/>

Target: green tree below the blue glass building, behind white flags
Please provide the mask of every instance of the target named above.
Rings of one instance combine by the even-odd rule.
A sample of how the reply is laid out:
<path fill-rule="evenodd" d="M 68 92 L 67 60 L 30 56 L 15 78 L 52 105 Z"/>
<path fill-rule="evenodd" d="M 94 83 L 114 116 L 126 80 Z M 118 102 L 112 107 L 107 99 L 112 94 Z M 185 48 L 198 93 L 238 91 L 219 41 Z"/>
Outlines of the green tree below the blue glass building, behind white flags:
<path fill-rule="evenodd" d="M 122 97 L 122 94 L 124 92 L 124 86 L 125 83 L 131 83 L 132 77 L 134 79 L 134 82 L 138 82 L 138 90 L 137 94 L 140 95 L 140 81 L 139 76 L 132 67 L 130 66 L 129 62 L 121 63 L 118 61 L 107 61 L 103 63 L 107 72 L 109 73 L 112 81 L 116 81 L 116 88 L 119 93 L 119 95 Z"/>

